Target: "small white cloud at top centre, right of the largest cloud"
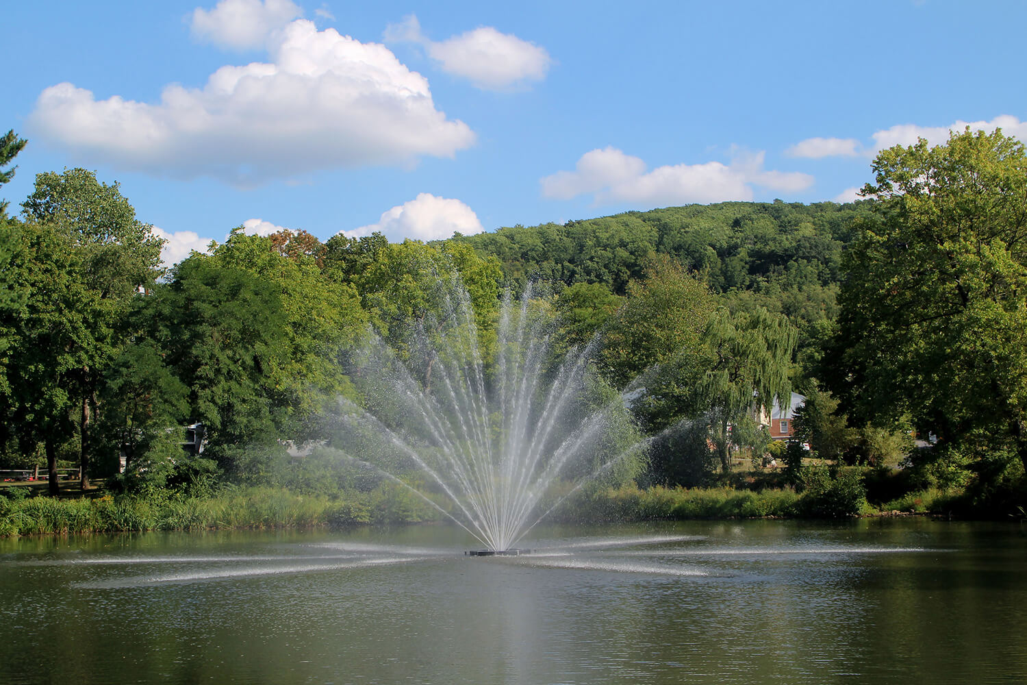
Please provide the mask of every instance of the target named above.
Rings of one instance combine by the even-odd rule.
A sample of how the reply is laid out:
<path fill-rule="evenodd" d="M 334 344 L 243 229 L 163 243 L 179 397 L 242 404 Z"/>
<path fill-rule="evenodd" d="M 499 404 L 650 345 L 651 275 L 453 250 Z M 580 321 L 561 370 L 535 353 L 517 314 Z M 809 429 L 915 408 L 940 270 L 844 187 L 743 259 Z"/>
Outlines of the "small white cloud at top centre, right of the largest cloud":
<path fill-rule="evenodd" d="M 492 27 L 479 27 L 443 41 L 430 40 L 414 14 L 389 25 L 385 40 L 421 45 L 443 71 L 485 90 L 506 90 L 527 81 L 540 81 L 553 64 L 545 48 Z"/>

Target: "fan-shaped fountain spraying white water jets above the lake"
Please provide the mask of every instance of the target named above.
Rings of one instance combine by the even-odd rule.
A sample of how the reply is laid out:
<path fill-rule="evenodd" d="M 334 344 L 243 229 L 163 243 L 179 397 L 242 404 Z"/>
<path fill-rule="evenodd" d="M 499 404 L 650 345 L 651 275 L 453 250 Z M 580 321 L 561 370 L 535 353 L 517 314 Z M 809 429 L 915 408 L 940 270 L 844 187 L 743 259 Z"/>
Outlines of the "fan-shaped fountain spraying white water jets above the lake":
<path fill-rule="evenodd" d="M 632 395 L 600 378 L 597 340 L 562 349 L 531 286 L 494 331 L 458 280 L 433 297 L 435 313 L 347 360 L 359 399 L 340 401 L 328 443 L 463 527 L 484 547 L 466 554 L 525 554 L 512 545 L 568 496 L 635 474 Z"/>

